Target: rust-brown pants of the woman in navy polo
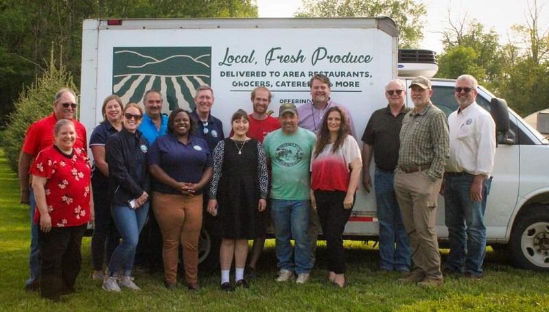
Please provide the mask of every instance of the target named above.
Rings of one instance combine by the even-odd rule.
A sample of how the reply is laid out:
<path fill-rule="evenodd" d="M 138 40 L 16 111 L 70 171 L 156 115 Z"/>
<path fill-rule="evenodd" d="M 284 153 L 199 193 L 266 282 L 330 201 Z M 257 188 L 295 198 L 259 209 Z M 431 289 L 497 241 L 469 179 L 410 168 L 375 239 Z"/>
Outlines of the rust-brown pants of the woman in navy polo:
<path fill-rule="evenodd" d="M 176 284 L 178 248 L 183 246 L 185 280 L 198 283 L 198 239 L 202 228 L 202 195 L 154 192 L 152 210 L 162 232 L 162 259 L 166 283 Z"/>

